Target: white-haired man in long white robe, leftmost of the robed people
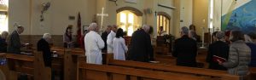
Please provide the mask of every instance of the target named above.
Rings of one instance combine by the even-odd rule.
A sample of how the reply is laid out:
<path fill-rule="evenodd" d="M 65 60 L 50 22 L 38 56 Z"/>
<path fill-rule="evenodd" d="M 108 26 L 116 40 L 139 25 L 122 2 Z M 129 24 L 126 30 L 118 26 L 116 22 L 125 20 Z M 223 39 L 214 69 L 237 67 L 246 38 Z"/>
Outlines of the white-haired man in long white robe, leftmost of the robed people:
<path fill-rule="evenodd" d="M 105 46 L 104 41 L 97 33 L 98 26 L 96 23 L 91 23 L 89 29 L 90 32 L 84 37 L 86 62 L 90 64 L 102 65 L 102 49 Z"/>

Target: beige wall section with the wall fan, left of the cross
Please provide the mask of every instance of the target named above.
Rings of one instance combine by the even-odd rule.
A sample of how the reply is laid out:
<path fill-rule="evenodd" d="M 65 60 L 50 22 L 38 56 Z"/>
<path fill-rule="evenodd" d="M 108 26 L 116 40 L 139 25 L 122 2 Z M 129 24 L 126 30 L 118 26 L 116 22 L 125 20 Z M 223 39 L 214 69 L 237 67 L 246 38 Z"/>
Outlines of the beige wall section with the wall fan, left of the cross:
<path fill-rule="evenodd" d="M 41 4 L 50 1 L 51 6 L 44 14 L 44 22 L 40 22 Z M 95 0 L 9 0 L 9 31 L 15 22 L 25 26 L 23 35 L 42 35 L 49 32 L 62 35 L 68 25 L 73 25 L 74 34 L 77 29 L 78 13 L 81 14 L 82 25 L 89 25 L 96 14 Z M 68 20 L 75 16 L 75 20 Z"/>

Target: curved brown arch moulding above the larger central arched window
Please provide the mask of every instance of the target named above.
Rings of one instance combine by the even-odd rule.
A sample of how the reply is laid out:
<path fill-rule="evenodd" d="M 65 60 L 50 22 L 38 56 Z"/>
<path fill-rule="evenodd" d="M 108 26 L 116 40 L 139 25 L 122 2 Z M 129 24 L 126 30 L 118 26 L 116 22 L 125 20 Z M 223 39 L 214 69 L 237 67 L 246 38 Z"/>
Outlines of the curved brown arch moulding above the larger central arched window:
<path fill-rule="evenodd" d="M 132 7 L 122 7 L 116 10 L 117 13 L 122 12 L 124 10 L 129 10 L 131 11 L 133 14 L 136 14 L 137 16 L 143 16 L 143 12 L 141 12 L 138 9 L 132 8 Z"/>

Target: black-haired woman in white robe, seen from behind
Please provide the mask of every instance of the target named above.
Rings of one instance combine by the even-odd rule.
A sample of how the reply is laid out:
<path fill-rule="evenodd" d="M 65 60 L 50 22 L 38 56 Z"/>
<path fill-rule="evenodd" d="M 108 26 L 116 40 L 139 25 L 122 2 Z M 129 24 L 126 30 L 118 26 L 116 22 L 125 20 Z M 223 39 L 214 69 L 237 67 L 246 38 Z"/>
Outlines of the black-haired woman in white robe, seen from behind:
<path fill-rule="evenodd" d="M 123 38 L 124 31 L 119 28 L 116 32 L 116 37 L 113 38 L 113 59 L 125 60 L 125 53 L 128 51 Z"/>

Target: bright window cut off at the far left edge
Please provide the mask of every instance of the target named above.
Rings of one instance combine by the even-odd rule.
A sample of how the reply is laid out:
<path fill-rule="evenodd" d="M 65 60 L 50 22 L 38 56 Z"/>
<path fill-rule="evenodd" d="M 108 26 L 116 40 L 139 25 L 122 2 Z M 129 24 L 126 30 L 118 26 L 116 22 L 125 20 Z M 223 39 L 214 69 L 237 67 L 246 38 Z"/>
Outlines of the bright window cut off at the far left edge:
<path fill-rule="evenodd" d="M 8 31 L 8 3 L 9 0 L 0 0 L 0 33 Z"/>

